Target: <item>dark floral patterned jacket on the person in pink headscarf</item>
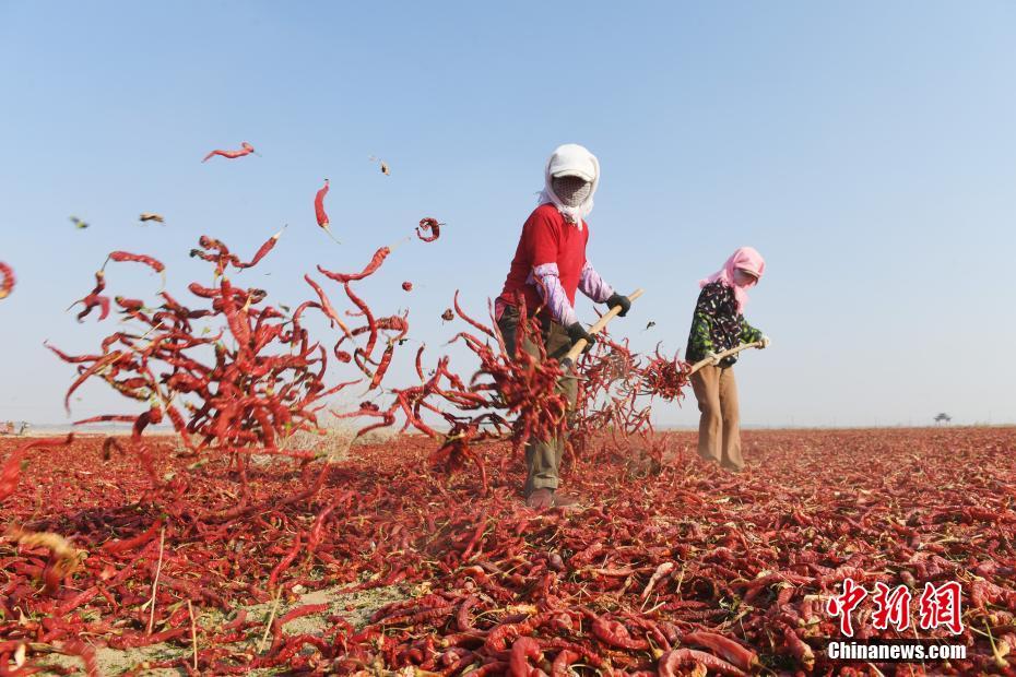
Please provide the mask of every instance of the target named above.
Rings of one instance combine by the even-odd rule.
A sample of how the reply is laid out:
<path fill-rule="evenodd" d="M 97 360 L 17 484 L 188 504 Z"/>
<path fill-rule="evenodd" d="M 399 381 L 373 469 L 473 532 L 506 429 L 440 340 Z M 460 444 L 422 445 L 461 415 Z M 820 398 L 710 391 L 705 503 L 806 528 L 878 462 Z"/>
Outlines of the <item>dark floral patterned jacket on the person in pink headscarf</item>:
<path fill-rule="evenodd" d="M 698 295 L 685 359 L 694 364 L 705 359 L 707 353 L 721 353 L 761 336 L 761 331 L 737 312 L 734 290 L 722 282 L 713 282 L 704 286 Z M 736 361 L 737 356 L 732 355 L 720 360 L 720 366 L 730 367 Z"/>

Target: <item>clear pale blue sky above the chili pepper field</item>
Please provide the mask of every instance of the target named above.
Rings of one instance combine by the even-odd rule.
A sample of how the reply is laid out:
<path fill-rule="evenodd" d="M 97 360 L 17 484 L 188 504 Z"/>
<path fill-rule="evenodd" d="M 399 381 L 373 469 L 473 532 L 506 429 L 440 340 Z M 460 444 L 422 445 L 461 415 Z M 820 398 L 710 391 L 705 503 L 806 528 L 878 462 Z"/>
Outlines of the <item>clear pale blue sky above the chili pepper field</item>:
<path fill-rule="evenodd" d="M 578 142 L 602 165 L 589 257 L 647 289 L 614 330 L 635 347 L 683 352 L 697 280 L 741 245 L 766 257 L 746 314 L 773 345 L 737 367 L 747 424 L 1016 421 L 1016 4 L 581 7 L 0 1 L 0 261 L 19 277 L 0 420 L 67 420 L 72 370 L 42 344 L 111 331 L 64 312 L 106 252 L 160 256 L 180 292 L 208 277 L 187 258 L 202 233 L 243 252 L 290 224 L 252 272 L 287 302 L 314 264 L 358 268 L 438 217 L 437 244 L 364 285 L 412 308 L 434 358 L 453 290 L 483 314 L 546 155 Z M 201 164 L 241 141 L 262 156 Z M 341 247 L 314 222 L 323 177 Z M 74 418 L 129 409 L 81 394 Z M 688 395 L 658 420 L 694 424 Z"/>

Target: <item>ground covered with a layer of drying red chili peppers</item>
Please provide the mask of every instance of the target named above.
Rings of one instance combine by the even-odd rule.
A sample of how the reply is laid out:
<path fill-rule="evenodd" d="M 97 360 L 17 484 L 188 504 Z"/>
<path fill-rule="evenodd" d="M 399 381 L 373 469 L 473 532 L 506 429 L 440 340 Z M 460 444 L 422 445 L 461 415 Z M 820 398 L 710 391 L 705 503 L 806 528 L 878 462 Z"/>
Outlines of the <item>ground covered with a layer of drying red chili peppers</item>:
<path fill-rule="evenodd" d="M 635 454 L 591 440 L 566 467 L 586 497 L 567 512 L 523 507 L 521 468 L 503 462 L 507 442 L 475 446 L 489 474 L 480 497 L 471 466 L 430 472 L 433 441 L 399 436 L 354 447 L 306 500 L 272 502 L 307 471 L 267 458 L 248 470 L 261 508 L 222 522 L 201 515 L 235 506 L 239 477 L 224 458 L 196 464 L 175 453 L 170 436 L 150 447 L 160 476 L 186 486 L 179 500 L 190 509 L 172 519 L 146 501 L 131 455 L 106 450 L 103 461 L 102 437 L 29 449 L 16 454 L 25 470 L 4 521 L 83 554 L 49 595 L 47 547 L 0 541 L 0 670 L 16 672 L 25 646 L 26 667 L 62 653 L 81 656 L 59 662 L 76 667 L 49 669 L 87 660 L 98 674 L 110 669 L 103 656 L 153 643 L 168 650 L 146 667 L 194 673 L 197 646 L 204 674 L 1012 670 L 1014 430 L 747 431 L 739 475 L 700 463 L 693 433 L 657 437 L 670 451 L 648 474 Z M 0 440 L 0 458 L 23 443 Z M 961 582 L 955 640 L 967 660 L 827 663 L 820 638 L 839 630 L 824 603 L 848 575 L 869 589 Z M 357 595 L 369 589 L 402 598 L 364 606 Z M 867 620 L 854 628 L 891 636 Z"/>

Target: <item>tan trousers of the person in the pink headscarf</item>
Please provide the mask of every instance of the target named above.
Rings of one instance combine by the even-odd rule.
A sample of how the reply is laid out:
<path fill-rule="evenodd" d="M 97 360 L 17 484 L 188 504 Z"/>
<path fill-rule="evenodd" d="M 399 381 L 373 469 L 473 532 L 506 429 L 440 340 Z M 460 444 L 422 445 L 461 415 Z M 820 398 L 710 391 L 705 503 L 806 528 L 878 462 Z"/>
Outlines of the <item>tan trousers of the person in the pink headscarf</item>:
<path fill-rule="evenodd" d="M 698 400 L 698 455 L 728 470 L 744 467 L 741 456 L 741 412 L 737 382 L 732 367 L 709 365 L 692 375 L 692 389 Z"/>

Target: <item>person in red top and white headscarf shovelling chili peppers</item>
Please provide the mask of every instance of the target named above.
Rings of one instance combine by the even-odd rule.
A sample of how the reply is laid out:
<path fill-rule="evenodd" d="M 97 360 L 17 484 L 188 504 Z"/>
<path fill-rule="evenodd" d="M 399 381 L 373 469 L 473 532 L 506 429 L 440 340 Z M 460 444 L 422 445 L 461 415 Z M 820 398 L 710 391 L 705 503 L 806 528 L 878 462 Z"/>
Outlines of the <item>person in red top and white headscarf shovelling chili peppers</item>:
<path fill-rule="evenodd" d="M 598 304 L 621 306 L 622 317 L 628 312 L 631 301 L 603 282 L 586 259 L 589 225 L 584 218 L 592 211 L 599 182 L 600 163 L 578 144 L 558 146 L 547 159 L 539 206 L 522 226 L 505 288 L 494 305 L 509 355 L 516 351 L 519 302 L 525 304 L 528 314 L 539 318 L 546 355 L 555 359 L 562 359 L 580 339 L 590 344 L 595 341 L 575 313 L 576 290 Z M 528 339 L 522 349 L 539 358 L 539 348 Z M 558 389 L 574 408 L 576 380 L 564 378 Z M 564 449 L 564 439 L 530 440 L 527 444 L 524 495 L 531 508 L 575 502 L 558 494 L 557 471 Z"/>

